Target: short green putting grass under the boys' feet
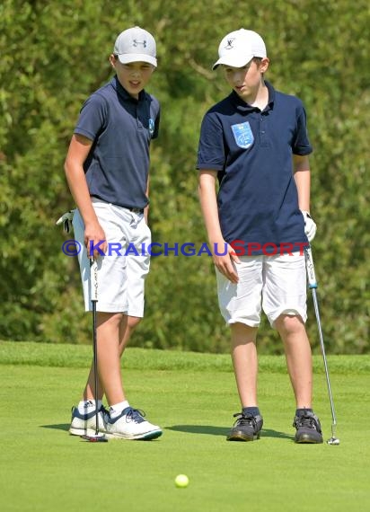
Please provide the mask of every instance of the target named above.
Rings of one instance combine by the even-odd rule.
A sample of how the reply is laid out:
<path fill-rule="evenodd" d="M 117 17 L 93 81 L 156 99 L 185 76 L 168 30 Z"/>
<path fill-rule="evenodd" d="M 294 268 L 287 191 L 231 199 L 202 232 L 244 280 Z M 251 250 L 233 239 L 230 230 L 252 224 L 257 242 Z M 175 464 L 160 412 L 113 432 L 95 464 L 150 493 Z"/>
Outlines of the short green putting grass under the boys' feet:
<path fill-rule="evenodd" d="M 369 356 L 328 358 L 340 446 L 297 446 L 284 358 L 261 357 L 260 441 L 227 443 L 239 410 L 228 355 L 128 349 L 129 401 L 163 427 L 153 442 L 67 434 L 91 348 L 0 342 L 0 510 L 360 512 L 370 510 Z M 314 407 L 330 437 L 322 358 Z M 177 489 L 178 473 L 189 487 Z"/>

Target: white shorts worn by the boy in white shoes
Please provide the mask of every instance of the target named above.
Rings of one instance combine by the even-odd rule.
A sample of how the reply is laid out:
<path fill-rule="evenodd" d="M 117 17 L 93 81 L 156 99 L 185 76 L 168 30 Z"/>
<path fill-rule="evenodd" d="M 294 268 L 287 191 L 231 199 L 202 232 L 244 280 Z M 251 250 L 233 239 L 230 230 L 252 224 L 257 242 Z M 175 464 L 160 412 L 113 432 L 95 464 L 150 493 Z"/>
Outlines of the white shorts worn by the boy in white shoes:
<path fill-rule="evenodd" d="M 99 199 L 93 199 L 93 208 L 108 242 L 107 252 L 97 259 L 96 310 L 142 317 L 145 277 L 150 265 L 147 247 L 151 243 L 151 232 L 144 214 Z M 75 210 L 73 225 L 75 240 L 82 247 L 78 261 L 84 288 L 84 307 L 86 311 L 91 311 L 90 261 L 84 246 L 84 221 L 78 210 Z"/>

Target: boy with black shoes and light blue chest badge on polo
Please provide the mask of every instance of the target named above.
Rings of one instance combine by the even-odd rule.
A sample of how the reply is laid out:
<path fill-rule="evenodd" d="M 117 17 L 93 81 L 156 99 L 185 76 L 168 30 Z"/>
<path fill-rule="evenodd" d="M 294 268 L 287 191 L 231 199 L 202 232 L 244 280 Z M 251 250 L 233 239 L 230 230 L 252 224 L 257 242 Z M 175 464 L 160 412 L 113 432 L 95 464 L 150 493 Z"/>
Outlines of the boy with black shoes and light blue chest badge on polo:
<path fill-rule="evenodd" d="M 218 54 L 213 69 L 223 67 L 233 91 L 203 119 L 197 167 L 218 301 L 231 329 L 242 403 L 227 439 L 260 437 L 256 337 L 263 308 L 284 343 L 295 393 L 295 441 L 322 443 L 312 409 L 312 355 L 304 327 L 303 248 L 316 232 L 309 214 L 312 147 L 304 106 L 265 81 L 269 58 L 256 32 L 227 34 Z"/>

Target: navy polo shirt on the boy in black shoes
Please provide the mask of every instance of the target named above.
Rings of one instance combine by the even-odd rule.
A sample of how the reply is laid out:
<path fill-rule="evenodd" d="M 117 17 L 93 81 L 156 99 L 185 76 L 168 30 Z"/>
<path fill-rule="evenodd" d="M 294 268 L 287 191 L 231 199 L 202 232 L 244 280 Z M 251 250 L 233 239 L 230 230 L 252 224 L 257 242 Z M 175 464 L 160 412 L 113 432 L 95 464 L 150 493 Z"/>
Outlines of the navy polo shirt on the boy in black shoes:
<path fill-rule="evenodd" d="M 245 250 L 251 243 L 293 243 L 295 252 L 302 248 L 295 243 L 307 243 L 307 237 L 292 155 L 310 154 L 312 146 L 303 103 L 266 85 L 269 104 L 262 111 L 234 91 L 207 111 L 197 168 L 218 172 L 218 214 L 227 243 L 242 241 Z"/>

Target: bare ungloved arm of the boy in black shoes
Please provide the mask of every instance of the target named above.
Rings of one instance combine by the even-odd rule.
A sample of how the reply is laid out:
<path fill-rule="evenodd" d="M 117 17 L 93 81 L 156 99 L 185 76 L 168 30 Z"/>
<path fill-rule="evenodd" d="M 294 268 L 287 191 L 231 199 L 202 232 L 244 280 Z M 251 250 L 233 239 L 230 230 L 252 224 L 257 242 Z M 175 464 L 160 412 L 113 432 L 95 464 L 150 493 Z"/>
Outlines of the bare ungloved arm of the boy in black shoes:
<path fill-rule="evenodd" d="M 210 243 L 213 260 L 217 269 L 224 274 L 232 283 L 238 282 L 238 274 L 233 267 L 233 261 L 239 263 L 240 260 L 228 243 L 225 243 L 221 233 L 220 221 L 218 218 L 218 208 L 216 201 L 216 171 L 201 170 L 199 172 L 199 199 L 202 208 L 203 218 L 206 225 L 208 242 Z M 223 254 L 227 247 L 227 254 Z"/>

